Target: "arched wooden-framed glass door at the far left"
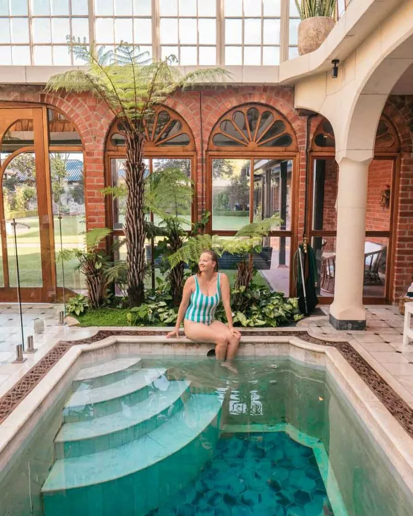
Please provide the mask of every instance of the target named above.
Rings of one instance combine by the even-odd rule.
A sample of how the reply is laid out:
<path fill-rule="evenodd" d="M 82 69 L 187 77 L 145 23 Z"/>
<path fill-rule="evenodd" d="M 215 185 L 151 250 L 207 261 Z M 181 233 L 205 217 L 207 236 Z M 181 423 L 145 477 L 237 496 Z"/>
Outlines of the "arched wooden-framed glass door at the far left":
<path fill-rule="evenodd" d="M 81 138 L 74 124 L 52 107 L 5 107 L 0 115 L 0 300 L 16 298 L 12 219 L 22 300 L 54 301 L 63 286 L 80 292 L 76 264 L 65 262 L 62 270 L 61 262 L 55 264 L 55 249 L 83 245 Z"/>

